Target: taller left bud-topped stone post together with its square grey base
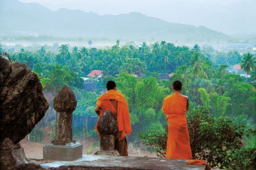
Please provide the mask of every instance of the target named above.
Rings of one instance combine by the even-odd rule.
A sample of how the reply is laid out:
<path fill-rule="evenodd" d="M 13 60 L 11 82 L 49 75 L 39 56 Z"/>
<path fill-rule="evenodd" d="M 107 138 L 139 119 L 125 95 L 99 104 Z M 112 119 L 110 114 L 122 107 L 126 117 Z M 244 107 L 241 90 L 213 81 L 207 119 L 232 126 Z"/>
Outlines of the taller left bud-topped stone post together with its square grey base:
<path fill-rule="evenodd" d="M 72 161 L 82 157 L 82 144 L 72 138 L 73 111 L 77 100 L 74 92 L 63 86 L 53 100 L 56 110 L 56 138 L 44 147 L 44 159 Z"/>

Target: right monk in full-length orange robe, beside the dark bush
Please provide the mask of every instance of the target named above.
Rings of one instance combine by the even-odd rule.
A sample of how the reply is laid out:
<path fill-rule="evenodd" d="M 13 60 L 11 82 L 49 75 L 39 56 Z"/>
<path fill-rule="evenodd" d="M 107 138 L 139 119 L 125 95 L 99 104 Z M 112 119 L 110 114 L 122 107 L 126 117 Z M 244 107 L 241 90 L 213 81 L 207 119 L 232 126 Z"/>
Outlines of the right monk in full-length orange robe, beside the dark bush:
<path fill-rule="evenodd" d="M 164 99 L 162 107 L 168 122 L 166 158 L 192 159 L 186 119 L 188 97 L 181 94 L 180 81 L 175 81 L 172 89 L 174 94 Z"/>

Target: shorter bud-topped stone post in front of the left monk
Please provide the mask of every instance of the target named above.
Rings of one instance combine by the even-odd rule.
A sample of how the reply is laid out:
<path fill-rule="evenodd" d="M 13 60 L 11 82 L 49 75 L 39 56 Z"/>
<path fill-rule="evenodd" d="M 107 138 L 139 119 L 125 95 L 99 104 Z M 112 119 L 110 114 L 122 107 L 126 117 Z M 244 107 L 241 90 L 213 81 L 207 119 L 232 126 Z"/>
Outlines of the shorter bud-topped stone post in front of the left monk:
<path fill-rule="evenodd" d="M 100 133 L 100 151 L 95 155 L 113 155 L 118 156 L 115 150 L 115 133 L 118 131 L 117 116 L 110 110 L 104 111 L 98 121 L 98 132 Z"/>

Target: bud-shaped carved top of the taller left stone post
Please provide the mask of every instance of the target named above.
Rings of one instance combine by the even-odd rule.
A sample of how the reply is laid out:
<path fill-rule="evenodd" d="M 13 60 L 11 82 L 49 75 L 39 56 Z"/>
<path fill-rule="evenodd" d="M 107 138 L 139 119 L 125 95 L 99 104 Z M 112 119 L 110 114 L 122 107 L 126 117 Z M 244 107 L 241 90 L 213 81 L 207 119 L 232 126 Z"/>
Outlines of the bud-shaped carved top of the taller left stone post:
<path fill-rule="evenodd" d="M 76 109 L 77 100 L 74 92 L 63 86 L 53 100 L 53 108 L 57 112 L 73 112 Z"/>

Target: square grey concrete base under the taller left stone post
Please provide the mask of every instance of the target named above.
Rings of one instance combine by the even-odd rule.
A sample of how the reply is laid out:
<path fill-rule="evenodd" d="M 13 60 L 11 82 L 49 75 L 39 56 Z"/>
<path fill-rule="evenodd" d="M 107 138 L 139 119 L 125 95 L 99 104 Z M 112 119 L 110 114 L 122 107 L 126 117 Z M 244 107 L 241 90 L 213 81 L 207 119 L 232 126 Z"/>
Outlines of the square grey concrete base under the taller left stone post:
<path fill-rule="evenodd" d="M 44 159 L 73 161 L 82 157 L 82 144 L 79 142 L 64 146 L 48 144 L 43 147 L 43 155 Z"/>

